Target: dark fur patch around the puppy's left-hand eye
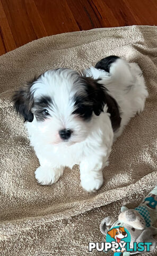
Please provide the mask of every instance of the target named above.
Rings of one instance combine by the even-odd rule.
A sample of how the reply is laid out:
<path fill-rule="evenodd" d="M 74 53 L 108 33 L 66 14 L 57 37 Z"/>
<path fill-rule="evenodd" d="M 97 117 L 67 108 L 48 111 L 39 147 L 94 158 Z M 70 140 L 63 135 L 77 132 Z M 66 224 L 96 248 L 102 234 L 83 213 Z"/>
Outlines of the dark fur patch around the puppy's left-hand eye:
<path fill-rule="evenodd" d="M 51 98 L 48 96 L 41 97 L 37 101 L 34 101 L 32 113 L 36 116 L 38 121 L 44 121 L 49 116 L 48 108 L 52 103 Z M 47 110 L 47 112 L 45 110 Z"/>

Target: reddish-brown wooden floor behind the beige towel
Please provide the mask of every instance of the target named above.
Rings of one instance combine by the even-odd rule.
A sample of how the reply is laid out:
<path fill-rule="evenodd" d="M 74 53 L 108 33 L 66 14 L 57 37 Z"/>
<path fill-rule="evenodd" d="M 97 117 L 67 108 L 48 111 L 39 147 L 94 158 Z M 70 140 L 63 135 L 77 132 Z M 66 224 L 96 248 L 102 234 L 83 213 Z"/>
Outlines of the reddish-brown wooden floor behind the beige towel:
<path fill-rule="evenodd" d="M 0 0 L 0 54 L 69 31 L 157 25 L 157 0 Z"/>

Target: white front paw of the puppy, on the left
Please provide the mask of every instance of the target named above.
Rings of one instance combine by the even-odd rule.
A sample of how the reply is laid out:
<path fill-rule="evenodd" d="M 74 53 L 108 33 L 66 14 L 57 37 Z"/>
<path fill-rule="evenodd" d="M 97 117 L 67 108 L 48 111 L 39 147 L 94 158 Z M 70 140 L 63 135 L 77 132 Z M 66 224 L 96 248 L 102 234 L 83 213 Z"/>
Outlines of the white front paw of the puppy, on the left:
<path fill-rule="evenodd" d="M 35 177 L 41 185 L 50 185 L 58 181 L 63 174 L 64 168 L 50 169 L 50 167 L 38 167 L 35 171 Z"/>

